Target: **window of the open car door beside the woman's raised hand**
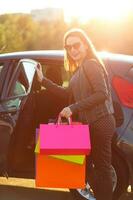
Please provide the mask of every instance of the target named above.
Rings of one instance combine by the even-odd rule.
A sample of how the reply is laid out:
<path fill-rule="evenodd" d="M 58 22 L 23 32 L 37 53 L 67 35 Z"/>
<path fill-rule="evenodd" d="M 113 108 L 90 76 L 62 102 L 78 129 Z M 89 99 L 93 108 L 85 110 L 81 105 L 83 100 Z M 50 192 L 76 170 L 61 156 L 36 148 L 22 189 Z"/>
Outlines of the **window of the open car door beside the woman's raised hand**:
<path fill-rule="evenodd" d="M 6 111 L 20 109 L 23 98 L 30 92 L 37 63 L 34 61 L 20 61 L 14 76 L 10 80 L 7 91 L 7 100 L 2 102 L 2 107 Z"/>

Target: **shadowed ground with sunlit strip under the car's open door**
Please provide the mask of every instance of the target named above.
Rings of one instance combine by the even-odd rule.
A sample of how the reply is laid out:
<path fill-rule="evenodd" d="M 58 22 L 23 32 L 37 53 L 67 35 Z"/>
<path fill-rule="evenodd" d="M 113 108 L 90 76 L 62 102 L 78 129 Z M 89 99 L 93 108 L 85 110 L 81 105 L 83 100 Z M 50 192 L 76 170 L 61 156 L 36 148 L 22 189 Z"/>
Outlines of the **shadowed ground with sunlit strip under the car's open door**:
<path fill-rule="evenodd" d="M 68 189 L 35 188 L 32 179 L 0 178 L 0 200 L 72 200 Z"/>

